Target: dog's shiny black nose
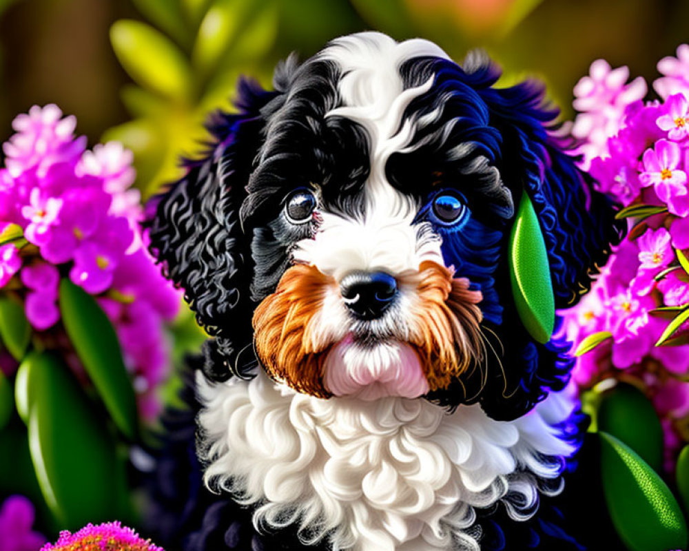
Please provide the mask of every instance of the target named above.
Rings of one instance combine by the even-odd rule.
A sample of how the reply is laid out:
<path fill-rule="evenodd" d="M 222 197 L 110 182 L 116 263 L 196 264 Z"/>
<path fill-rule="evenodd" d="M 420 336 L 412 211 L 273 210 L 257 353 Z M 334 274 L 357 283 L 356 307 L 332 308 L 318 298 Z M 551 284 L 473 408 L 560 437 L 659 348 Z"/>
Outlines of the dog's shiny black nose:
<path fill-rule="evenodd" d="M 380 318 L 395 300 L 397 282 L 384 271 L 353 271 L 340 282 L 347 308 L 360 320 Z"/>

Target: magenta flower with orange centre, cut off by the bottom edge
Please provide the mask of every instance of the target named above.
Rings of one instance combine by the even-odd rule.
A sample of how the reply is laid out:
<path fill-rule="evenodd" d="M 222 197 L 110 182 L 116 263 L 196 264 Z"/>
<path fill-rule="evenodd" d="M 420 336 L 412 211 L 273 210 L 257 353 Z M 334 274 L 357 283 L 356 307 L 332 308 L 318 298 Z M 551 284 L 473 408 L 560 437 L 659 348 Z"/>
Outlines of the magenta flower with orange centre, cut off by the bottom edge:
<path fill-rule="evenodd" d="M 41 551 L 164 551 L 163 548 L 144 540 L 132 530 L 122 526 L 119 521 L 107 522 L 93 526 L 89 524 L 74 534 L 63 530 L 60 539 L 48 543 Z"/>

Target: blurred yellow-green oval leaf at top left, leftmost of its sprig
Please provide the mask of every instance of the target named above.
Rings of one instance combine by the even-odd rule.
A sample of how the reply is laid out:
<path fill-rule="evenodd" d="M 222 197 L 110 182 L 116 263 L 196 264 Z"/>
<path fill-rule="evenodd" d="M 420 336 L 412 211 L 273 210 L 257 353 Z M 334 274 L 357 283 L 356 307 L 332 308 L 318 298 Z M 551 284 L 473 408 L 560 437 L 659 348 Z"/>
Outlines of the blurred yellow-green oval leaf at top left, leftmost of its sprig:
<path fill-rule="evenodd" d="M 110 28 L 110 41 L 134 81 L 178 101 L 189 99 L 191 69 L 184 54 L 163 34 L 141 21 L 121 19 Z"/>

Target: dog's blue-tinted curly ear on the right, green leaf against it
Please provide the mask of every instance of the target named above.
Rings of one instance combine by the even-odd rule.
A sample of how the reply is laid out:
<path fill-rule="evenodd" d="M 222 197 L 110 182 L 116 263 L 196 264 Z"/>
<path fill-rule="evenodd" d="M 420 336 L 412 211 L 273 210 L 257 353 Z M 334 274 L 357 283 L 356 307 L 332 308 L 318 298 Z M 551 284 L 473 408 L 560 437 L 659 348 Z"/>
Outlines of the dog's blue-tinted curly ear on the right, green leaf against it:
<path fill-rule="evenodd" d="M 590 289 L 591 275 L 624 229 L 612 202 L 593 189 L 562 140 L 553 136 L 558 112 L 544 107 L 542 85 L 491 87 L 497 74 L 485 65 L 469 74 L 480 83 L 476 87 L 489 108 L 490 124 L 502 136 L 500 174 L 518 205 L 511 220 L 517 227 L 506 240 L 499 274 L 502 373 L 490 375 L 487 386 L 493 391 L 483 393 L 482 404 L 489 415 L 512 419 L 566 384 L 573 360 L 567 355 L 570 344 L 551 337 L 560 322 L 555 309 L 572 306 Z M 526 281 L 515 283 L 520 270 L 516 277 Z"/>

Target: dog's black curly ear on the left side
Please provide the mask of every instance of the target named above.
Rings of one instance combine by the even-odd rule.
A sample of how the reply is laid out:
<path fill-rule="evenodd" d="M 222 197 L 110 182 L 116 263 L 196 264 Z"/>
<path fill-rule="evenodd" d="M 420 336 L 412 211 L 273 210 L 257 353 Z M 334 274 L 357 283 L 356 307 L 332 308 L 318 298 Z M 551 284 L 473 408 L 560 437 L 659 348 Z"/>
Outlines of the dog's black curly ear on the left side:
<path fill-rule="evenodd" d="M 238 218 L 260 147 L 262 110 L 279 92 L 240 81 L 238 113 L 218 113 L 206 158 L 187 161 L 187 174 L 148 205 L 150 249 L 165 275 L 185 291 L 196 320 L 215 337 L 205 347 L 205 373 L 245 375 L 251 349 L 251 256 Z"/>

